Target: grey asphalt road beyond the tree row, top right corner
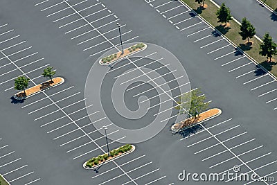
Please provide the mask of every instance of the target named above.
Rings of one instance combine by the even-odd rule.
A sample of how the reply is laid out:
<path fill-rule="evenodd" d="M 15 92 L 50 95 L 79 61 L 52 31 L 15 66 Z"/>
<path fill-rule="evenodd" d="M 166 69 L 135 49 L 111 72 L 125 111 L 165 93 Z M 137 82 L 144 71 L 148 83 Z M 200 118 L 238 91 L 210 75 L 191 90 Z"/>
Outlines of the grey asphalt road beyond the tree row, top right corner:
<path fill-rule="evenodd" d="M 241 21 L 243 17 L 247 17 L 251 24 L 256 28 L 256 35 L 262 39 L 265 33 L 269 32 L 274 41 L 277 42 L 277 15 L 263 7 L 256 0 L 215 0 L 218 5 L 225 2 L 231 10 L 231 14 L 235 19 Z"/>

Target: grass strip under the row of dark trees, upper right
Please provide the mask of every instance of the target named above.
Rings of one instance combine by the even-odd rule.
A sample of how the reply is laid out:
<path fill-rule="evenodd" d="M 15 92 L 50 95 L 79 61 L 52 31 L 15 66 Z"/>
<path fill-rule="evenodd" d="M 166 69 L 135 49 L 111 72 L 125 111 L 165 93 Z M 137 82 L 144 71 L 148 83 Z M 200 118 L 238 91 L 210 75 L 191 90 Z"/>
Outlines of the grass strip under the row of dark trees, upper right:
<path fill-rule="evenodd" d="M 259 55 L 260 44 L 261 42 L 253 37 L 250 39 L 251 44 L 246 44 L 247 40 L 242 40 L 242 37 L 238 34 L 240 32 L 240 25 L 235 21 L 231 20 L 230 27 L 222 26 L 222 23 L 217 22 L 217 15 L 215 12 L 218 10 L 217 6 L 215 6 L 211 1 L 206 0 L 205 3 L 208 5 L 206 9 L 200 8 L 199 4 L 195 2 L 195 0 L 181 0 L 184 1 L 190 8 L 193 8 L 195 12 L 201 15 L 206 21 L 212 24 L 217 30 L 228 37 L 235 45 L 240 47 L 245 53 L 248 53 L 254 60 L 260 63 L 263 67 L 265 67 L 268 71 L 277 76 L 277 63 L 276 62 L 266 62 L 266 58 Z M 275 5 L 277 5 L 276 0 L 267 0 L 272 1 Z M 266 1 L 266 2 L 267 2 Z M 239 20 L 240 21 L 240 20 Z M 276 56 L 274 60 L 276 60 Z"/>

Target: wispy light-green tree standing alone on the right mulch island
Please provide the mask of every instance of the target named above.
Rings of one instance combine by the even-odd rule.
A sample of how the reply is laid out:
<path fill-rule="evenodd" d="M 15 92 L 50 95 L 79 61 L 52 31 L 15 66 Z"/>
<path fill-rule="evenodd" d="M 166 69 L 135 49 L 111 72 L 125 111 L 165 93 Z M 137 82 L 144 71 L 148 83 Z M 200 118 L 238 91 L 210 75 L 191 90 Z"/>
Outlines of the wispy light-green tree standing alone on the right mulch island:
<path fill-rule="evenodd" d="M 187 113 L 196 118 L 196 116 L 209 107 L 209 103 L 204 102 L 206 96 L 200 96 L 200 94 L 202 94 L 200 89 L 195 89 L 191 93 L 182 94 L 179 97 L 179 106 L 176 109 L 180 110 L 180 114 Z"/>

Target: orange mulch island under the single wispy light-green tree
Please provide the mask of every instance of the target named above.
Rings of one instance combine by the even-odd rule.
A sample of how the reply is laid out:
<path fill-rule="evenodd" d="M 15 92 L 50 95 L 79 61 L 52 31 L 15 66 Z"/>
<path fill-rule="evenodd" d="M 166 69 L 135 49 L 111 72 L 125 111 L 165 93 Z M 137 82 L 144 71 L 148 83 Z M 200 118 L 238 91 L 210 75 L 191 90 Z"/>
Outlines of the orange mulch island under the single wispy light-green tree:
<path fill-rule="evenodd" d="M 202 112 L 199 115 L 195 117 L 187 118 L 184 121 L 181 121 L 179 123 L 175 123 L 172 125 L 171 130 L 177 131 L 180 129 L 186 129 L 188 127 L 192 127 L 193 125 L 197 125 L 197 123 L 200 123 L 202 121 L 206 121 L 208 118 L 213 118 L 215 116 L 218 116 L 221 114 L 221 110 L 217 108 L 209 109 L 206 112 Z"/>

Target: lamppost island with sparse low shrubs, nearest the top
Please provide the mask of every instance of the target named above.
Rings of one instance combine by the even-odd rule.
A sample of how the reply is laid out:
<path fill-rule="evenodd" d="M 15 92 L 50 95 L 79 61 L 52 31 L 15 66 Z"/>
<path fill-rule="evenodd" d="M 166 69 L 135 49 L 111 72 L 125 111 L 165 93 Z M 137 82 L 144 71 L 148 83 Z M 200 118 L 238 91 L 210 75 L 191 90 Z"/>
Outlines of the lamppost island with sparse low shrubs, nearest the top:
<path fill-rule="evenodd" d="M 100 60 L 100 64 L 102 64 L 102 65 L 111 64 L 112 62 L 115 62 L 119 58 L 124 58 L 127 55 L 131 55 L 133 53 L 142 51 L 146 47 L 147 47 L 147 45 L 143 44 L 143 43 L 135 44 L 134 46 L 131 46 L 127 49 L 124 49 L 123 50 L 124 51 L 123 55 L 121 54 L 121 51 L 118 51 L 117 53 L 114 53 L 114 54 L 111 54 L 111 55 L 109 55 L 105 58 L 102 58 Z"/>

